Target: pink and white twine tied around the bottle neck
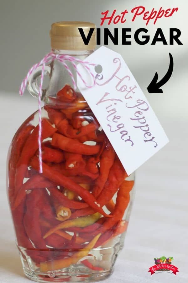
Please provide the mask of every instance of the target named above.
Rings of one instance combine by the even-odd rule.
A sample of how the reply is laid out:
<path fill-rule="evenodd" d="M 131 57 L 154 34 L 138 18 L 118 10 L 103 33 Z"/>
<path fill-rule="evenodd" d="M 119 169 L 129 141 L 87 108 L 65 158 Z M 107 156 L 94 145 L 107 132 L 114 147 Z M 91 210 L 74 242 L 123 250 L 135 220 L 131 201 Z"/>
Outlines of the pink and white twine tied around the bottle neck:
<path fill-rule="evenodd" d="M 41 79 L 40 79 L 40 85 L 39 85 L 39 99 L 38 99 L 38 107 L 39 107 L 39 136 L 38 136 L 38 145 L 39 145 L 39 173 L 42 173 L 42 149 L 41 149 L 41 135 L 42 135 L 42 117 L 41 117 L 41 96 L 42 96 L 42 85 L 43 85 L 43 80 L 44 80 L 44 68 L 46 64 L 49 64 L 50 62 L 54 61 L 54 60 L 58 60 L 60 61 L 65 68 L 67 69 L 71 79 L 72 79 L 72 83 L 74 86 L 74 89 L 76 90 L 77 86 L 76 86 L 76 82 L 74 80 L 74 76 L 70 70 L 70 68 L 67 66 L 67 64 L 65 63 L 65 61 L 69 61 L 72 63 L 73 67 L 76 70 L 76 73 L 79 75 L 79 77 L 81 78 L 82 82 L 84 83 L 84 85 L 88 88 L 91 88 L 93 86 L 95 86 L 96 82 L 95 82 L 95 76 L 93 75 L 93 73 L 91 72 L 90 68 L 88 67 L 88 65 L 91 66 L 96 66 L 96 64 L 92 64 L 90 62 L 86 62 L 86 61 L 82 61 L 79 60 L 75 57 L 72 57 L 70 55 L 66 55 L 66 54 L 54 54 L 52 52 L 48 53 L 39 63 L 35 64 L 33 67 L 31 67 L 31 69 L 29 69 L 29 72 L 27 73 L 26 77 L 24 78 L 20 88 L 19 88 L 19 94 L 22 96 L 24 94 L 26 85 L 27 85 L 27 81 L 30 77 L 30 75 L 33 73 L 34 70 L 36 70 L 39 66 L 42 66 L 42 71 L 41 71 Z M 86 81 L 83 79 L 82 75 L 80 74 L 80 72 L 77 69 L 77 66 L 75 63 L 80 63 L 82 64 L 86 70 L 88 71 L 88 73 L 91 75 L 91 77 L 93 78 L 93 85 L 88 86 Z"/>

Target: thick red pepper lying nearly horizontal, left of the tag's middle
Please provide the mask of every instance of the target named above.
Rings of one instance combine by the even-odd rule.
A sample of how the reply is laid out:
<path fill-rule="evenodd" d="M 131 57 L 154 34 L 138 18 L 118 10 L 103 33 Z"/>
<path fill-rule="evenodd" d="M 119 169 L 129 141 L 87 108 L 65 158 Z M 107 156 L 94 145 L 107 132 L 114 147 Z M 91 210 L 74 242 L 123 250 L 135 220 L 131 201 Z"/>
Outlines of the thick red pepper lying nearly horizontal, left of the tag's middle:
<path fill-rule="evenodd" d="M 86 145 L 76 140 L 70 139 L 66 136 L 62 136 L 60 134 L 53 135 L 52 145 L 71 153 L 78 153 L 84 155 L 97 154 L 100 149 L 99 145 Z"/>

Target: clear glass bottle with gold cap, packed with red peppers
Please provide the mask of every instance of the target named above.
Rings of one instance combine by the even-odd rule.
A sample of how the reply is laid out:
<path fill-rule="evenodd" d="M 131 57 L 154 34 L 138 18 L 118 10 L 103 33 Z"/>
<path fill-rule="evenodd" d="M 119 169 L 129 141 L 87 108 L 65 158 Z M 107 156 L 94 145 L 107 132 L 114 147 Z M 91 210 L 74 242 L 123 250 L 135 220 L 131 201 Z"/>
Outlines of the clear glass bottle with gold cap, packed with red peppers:
<path fill-rule="evenodd" d="M 87 34 L 95 25 L 54 23 L 52 52 L 81 60 L 91 54 L 96 33 L 84 45 L 78 27 Z M 28 80 L 34 97 L 40 74 L 41 68 Z M 8 153 L 8 198 L 24 273 L 38 282 L 102 280 L 123 248 L 134 174 L 127 176 L 64 65 L 55 59 L 45 74 L 50 81 L 42 94 L 43 173 L 38 111 L 20 126 Z"/>

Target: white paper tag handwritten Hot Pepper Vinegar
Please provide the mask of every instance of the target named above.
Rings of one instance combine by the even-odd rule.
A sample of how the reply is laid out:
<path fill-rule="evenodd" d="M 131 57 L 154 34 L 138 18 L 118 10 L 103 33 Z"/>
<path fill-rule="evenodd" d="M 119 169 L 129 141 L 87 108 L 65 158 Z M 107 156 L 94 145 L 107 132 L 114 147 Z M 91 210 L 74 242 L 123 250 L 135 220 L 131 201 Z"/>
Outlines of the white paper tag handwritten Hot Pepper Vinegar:
<path fill-rule="evenodd" d="M 90 67 L 97 83 L 92 88 L 77 75 L 78 88 L 130 175 L 169 140 L 119 53 L 102 46 L 85 61 L 101 65 L 102 72 Z M 85 67 L 77 67 L 87 85 L 92 85 Z"/>

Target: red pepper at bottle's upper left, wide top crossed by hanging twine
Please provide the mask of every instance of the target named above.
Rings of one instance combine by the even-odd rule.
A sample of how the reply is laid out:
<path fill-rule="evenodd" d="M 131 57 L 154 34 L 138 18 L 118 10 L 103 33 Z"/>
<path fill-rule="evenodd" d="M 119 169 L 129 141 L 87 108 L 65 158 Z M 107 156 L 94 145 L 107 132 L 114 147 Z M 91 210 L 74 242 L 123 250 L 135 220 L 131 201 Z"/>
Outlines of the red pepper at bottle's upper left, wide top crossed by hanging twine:
<path fill-rule="evenodd" d="M 53 128 L 46 119 L 42 120 L 42 138 L 41 138 L 42 140 L 52 136 L 55 133 L 55 131 L 56 129 Z M 37 126 L 33 130 L 33 132 L 28 137 L 23 147 L 15 174 L 15 193 L 17 193 L 19 188 L 22 186 L 24 175 L 29 164 L 29 160 L 32 156 L 34 156 L 35 152 L 38 149 L 38 135 L 39 135 L 39 126 Z"/>

